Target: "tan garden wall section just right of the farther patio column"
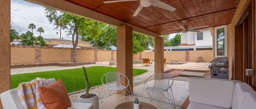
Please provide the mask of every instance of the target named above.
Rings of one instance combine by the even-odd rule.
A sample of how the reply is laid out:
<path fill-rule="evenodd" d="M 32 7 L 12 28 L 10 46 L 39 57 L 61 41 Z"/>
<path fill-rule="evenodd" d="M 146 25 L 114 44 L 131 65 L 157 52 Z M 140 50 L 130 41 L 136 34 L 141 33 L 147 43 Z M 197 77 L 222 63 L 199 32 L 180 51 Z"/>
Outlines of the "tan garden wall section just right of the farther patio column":
<path fill-rule="evenodd" d="M 164 52 L 164 57 L 166 58 L 166 61 L 179 61 L 179 62 L 185 62 L 186 61 L 186 51 L 175 51 L 175 52 Z"/>

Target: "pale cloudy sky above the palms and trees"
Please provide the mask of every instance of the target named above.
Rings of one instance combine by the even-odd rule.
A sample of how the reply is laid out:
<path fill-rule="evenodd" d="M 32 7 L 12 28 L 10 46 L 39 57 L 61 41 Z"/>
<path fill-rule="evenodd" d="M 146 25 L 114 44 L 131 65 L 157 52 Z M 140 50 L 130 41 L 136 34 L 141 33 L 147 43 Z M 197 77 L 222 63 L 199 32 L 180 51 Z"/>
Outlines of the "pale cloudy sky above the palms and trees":
<path fill-rule="evenodd" d="M 37 28 L 43 27 L 44 33 L 41 35 L 44 38 L 59 39 L 59 35 L 56 34 L 58 31 L 45 17 L 44 7 L 23 0 L 11 0 L 11 27 L 19 31 L 19 34 L 22 34 L 31 30 L 28 29 L 29 23 L 34 23 Z M 35 36 L 39 36 L 37 29 L 33 30 L 33 33 Z M 170 38 L 174 36 L 175 34 L 171 34 Z M 62 31 L 62 37 L 71 40 L 71 37 L 67 37 L 64 31 Z"/>

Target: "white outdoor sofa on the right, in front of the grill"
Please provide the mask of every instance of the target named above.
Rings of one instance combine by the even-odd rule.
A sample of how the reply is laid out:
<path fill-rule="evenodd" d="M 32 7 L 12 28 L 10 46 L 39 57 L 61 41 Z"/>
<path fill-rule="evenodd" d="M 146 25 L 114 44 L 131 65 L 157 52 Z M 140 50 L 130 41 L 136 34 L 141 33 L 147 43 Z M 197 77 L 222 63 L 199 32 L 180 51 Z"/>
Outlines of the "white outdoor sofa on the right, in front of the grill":
<path fill-rule="evenodd" d="M 244 82 L 189 78 L 187 109 L 256 109 L 256 92 Z"/>

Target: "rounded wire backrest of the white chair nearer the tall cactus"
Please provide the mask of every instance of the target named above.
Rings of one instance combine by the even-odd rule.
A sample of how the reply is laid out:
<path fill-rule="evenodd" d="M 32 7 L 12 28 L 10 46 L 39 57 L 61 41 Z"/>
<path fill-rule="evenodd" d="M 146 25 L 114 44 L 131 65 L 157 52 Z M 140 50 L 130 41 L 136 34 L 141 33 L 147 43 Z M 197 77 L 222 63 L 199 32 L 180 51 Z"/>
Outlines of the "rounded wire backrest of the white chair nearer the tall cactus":
<path fill-rule="evenodd" d="M 127 84 L 122 84 L 127 83 Z M 119 72 L 108 72 L 102 76 L 102 84 L 105 87 L 125 87 L 129 86 L 128 78 Z"/>

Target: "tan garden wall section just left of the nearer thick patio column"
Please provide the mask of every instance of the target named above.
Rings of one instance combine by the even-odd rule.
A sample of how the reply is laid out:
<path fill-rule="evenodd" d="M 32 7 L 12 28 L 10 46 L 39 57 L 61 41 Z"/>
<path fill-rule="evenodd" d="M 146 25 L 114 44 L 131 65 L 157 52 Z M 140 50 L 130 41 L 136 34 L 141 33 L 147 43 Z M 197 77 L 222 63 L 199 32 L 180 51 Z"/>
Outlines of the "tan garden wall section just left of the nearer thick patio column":
<path fill-rule="evenodd" d="M 111 61 L 111 51 L 97 51 L 97 61 Z"/>

